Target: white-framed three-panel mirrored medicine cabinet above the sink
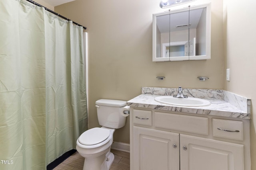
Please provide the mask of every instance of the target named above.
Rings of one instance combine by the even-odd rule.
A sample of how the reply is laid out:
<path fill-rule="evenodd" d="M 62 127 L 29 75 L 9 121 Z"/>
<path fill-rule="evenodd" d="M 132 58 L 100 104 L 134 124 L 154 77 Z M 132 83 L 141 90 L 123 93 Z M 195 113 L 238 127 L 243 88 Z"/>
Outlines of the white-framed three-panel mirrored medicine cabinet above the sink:
<path fill-rule="evenodd" d="M 211 58 L 210 4 L 153 14 L 153 61 Z"/>

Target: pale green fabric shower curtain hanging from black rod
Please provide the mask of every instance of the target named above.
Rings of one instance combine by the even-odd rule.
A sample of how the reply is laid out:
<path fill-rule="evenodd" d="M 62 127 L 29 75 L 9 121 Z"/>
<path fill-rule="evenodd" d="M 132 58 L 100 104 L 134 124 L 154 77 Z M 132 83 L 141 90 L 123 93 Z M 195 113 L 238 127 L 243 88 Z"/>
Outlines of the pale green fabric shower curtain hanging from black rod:
<path fill-rule="evenodd" d="M 83 28 L 0 0 L 0 170 L 44 170 L 87 129 Z"/>

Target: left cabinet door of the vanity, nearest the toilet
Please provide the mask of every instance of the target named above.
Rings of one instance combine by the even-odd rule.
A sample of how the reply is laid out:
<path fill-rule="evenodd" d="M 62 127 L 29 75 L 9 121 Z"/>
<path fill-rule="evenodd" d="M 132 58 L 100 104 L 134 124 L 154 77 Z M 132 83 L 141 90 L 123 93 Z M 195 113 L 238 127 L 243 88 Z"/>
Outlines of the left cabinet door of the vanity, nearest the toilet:
<path fill-rule="evenodd" d="M 132 170 L 179 170 L 179 134 L 133 127 Z"/>

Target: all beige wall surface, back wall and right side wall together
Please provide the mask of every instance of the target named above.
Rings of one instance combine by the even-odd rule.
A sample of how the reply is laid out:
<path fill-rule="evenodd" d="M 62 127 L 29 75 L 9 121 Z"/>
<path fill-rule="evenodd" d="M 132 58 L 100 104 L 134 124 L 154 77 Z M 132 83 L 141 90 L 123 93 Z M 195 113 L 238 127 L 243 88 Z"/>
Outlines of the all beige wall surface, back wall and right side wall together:
<path fill-rule="evenodd" d="M 55 7 L 88 28 L 89 128 L 99 126 L 96 100 L 130 100 L 141 93 L 141 86 L 225 89 L 252 99 L 251 155 L 256 169 L 256 1 L 212 0 L 212 59 L 153 63 L 152 14 L 165 11 L 159 2 L 76 0 Z M 230 68 L 230 82 L 225 79 L 226 68 Z M 156 76 L 166 78 L 159 81 Z M 197 76 L 210 79 L 200 82 Z M 114 141 L 129 143 L 128 123 L 114 133 Z"/>

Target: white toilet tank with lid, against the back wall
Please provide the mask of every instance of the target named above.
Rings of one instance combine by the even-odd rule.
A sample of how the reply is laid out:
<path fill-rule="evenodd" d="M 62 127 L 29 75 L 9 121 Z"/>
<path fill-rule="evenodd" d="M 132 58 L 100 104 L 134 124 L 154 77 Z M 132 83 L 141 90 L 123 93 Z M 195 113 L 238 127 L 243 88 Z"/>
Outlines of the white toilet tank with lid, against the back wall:
<path fill-rule="evenodd" d="M 126 101 L 100 99 L 95 102 L 100 125 L 113 129 L 124 127 L 126 117 L 122 116 L 122 108 Z"/>

